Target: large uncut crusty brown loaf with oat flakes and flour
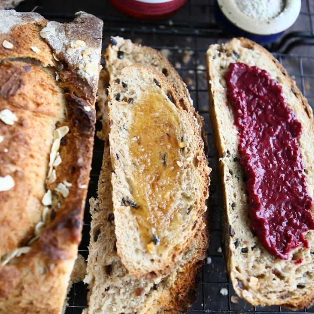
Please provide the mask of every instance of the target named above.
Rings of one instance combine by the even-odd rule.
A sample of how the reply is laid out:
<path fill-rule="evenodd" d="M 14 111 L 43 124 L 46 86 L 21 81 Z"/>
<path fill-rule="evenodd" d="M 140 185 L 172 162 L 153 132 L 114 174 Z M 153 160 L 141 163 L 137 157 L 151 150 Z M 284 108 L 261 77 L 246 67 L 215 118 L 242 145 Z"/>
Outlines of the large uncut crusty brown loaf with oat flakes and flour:
<path fill-rule="evenodd" d="M 0 312 L 60 313 L 81 240 L 102 21 L 0 11 Z"/>

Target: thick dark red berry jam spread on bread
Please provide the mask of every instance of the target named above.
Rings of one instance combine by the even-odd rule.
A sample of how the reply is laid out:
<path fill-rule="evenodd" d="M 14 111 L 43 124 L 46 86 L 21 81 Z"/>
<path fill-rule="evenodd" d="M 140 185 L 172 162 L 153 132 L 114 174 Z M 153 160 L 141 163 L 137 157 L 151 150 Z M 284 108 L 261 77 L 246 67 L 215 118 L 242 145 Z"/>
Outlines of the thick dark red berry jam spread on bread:
<path fill-rule="evenodd" d="M 270 254 L 289 259 L 292 249 L 309 246 L 305 232 L 314 229 L 298 143 L 301 123 L 265 70 L 231 63 L 225 79 L 239 131 L 251 230 Z"/>

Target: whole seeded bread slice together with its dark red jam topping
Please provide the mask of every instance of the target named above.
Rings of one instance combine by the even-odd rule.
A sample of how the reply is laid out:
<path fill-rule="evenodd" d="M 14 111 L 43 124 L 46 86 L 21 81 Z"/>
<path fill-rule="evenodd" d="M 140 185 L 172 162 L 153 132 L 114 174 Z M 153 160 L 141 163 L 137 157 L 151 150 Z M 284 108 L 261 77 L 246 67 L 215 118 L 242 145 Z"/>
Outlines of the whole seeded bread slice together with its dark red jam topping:
<path fill-rule="evenodd" d="M 236 293 L 297 310 L 314 300 L 314 124 L 268 51 L 234 38 L 207 51 L 210 114 L 223 179 L 222 232 Z"/>

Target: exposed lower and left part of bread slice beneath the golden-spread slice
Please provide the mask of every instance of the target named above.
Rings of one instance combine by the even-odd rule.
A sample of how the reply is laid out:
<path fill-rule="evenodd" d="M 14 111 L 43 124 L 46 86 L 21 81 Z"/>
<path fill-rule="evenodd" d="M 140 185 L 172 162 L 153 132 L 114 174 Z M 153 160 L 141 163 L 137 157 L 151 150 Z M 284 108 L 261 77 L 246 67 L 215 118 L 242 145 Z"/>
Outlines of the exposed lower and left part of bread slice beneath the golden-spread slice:
<path fill-rule="evenodd" d="M 208 247 L 208 230 L 204 228 L 192 247 L 183 253 L 173 273 L 154 280 L 134 279 L 122 266 L 116 252 L 113 216 L 109 125 L 107 123 L 108 77 L 100 75 L 98 104 L 103 115 L 105 140 L 103 165 L 98 182 L 98 198 L 90 199 L 92 215 L 87 274 L 88 308 L 85 313 L 178 313 L 187 311 L 195 300 L 198 273 Z M 108 219 L 111 217 L 110 219 Z M 207 223 L 207 215 L 203 217 Z M 105 271 L 104 271 L 105 270 Z"/>

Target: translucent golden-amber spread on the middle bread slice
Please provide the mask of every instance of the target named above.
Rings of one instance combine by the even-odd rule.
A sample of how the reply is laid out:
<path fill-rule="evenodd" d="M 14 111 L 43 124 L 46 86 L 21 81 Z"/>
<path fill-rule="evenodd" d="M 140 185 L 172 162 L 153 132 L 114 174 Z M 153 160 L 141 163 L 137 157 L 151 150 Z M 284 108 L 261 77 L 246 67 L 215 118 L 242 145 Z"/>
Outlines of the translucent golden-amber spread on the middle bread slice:
<path fill-rule="evenodd" d="M 169 234 L 181 225 L 175 195 L 180 191 L 181 122 L 177 109 L 160 92 L 148 92 L 134 101 L 129 129 L 129 152 L 134 165 L 132 213 L 150 253 L 161 252 Z M 180 162 L 179 162 L 180 163 Z"/>

